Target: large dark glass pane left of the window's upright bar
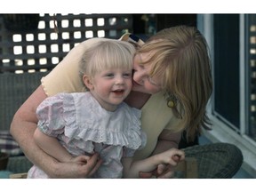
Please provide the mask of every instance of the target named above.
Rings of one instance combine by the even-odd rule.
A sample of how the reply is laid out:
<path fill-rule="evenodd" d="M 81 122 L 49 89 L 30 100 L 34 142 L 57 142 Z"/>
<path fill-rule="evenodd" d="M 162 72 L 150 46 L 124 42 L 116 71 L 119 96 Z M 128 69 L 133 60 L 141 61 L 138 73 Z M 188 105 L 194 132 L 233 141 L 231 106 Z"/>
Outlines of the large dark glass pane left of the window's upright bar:
<path fill-rule="evenodd" d="M 239 15 L 214 14 L 213 24 L 213 114 L 239 132 Z"/>

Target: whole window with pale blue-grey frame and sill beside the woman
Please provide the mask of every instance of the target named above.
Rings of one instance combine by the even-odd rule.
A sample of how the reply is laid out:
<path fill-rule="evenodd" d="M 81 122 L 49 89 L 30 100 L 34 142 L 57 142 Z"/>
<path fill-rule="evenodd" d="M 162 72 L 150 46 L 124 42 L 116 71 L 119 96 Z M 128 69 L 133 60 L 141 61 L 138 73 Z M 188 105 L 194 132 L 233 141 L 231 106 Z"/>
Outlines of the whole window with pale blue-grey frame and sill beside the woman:
<path fill-rule="evenodd" d="M 198 26 L 212 55 L 208 114 L 213 142 L 242 150 L 244 170 L 256 175 L 256 14 L 204 14 Z"/>

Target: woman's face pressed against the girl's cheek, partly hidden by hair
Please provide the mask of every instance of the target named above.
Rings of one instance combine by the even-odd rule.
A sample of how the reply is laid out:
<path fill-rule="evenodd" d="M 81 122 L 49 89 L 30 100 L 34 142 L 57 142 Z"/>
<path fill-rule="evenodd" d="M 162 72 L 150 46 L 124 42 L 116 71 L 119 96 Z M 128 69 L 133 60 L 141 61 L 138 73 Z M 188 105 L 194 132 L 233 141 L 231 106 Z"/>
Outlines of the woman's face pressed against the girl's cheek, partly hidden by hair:
<path fill-rule="evenodd" d="M 141 61 L 147 60 L 148 56 L 149 53 L 140 53 L 136 54 L 134 57 L 132 91 L 155 94 L 162 90 L 160 78 L 157 78 L 157 76 L 149 76 L 150 63 L 141 64 Z"/>

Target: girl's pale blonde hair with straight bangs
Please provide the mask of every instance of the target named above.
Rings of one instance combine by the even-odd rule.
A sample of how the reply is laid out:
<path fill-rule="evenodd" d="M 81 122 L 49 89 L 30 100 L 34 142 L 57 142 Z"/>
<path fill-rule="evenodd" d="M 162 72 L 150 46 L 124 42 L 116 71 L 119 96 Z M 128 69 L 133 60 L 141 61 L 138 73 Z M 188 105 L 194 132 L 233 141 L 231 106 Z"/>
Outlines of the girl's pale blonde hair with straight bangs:
<path fill-rule="evenodd" d="M 84 52 L 79 64 L 81 80 L 83 76 L 95 76 L 108 68 L 132 70 L 135 53 L 132 44 L 118 40 L 100 41 Z"/>

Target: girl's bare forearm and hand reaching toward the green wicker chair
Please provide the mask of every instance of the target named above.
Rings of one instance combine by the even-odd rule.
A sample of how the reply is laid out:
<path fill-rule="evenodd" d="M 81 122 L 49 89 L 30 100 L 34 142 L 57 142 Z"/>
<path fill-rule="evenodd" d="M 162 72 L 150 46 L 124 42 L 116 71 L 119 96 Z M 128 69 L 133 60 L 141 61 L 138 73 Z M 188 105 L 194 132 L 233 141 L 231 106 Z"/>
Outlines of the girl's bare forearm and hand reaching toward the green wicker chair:
<path fill-rule="evenodd" d="M 139 178 L 139 172 L 151 172 L 156 169 L 158 164 L 177 165 L 172 157 L 180 156 L 180 161 L 185 159 L 185 153 L 177 148 L 171 148 L 161 154 L 149 156 L 146 159 L 133 161 L 132 158 L 123 158 L 124 178 Z"/>

